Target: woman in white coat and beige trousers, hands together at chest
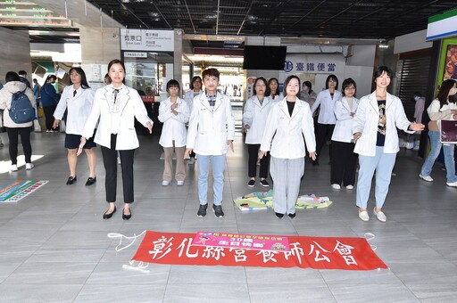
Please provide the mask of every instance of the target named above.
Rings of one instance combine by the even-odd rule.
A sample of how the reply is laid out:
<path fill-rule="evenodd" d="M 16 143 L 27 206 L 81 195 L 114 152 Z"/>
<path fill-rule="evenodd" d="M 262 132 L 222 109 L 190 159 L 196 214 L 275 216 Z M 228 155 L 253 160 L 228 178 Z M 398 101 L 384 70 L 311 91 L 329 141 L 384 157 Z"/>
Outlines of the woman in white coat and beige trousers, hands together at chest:
<path fill-rule="evenodd" d="M 176 151 L 176 174 L 178 186 L 184 185 L 186 170 L 184 168 L 184 151 L 186 150 L 189 108 L 187 102 L 179 98 L 179 82 L 171 79 L 167 83 L 167 93 L 170 97 L 161 102 L 159 120 L 163 123 L 162 135 L 159 143 L 163 147 L 165 156 L 162 185 L 168 186 L 171 181 L 173 168 L 173 148 Z"/>

